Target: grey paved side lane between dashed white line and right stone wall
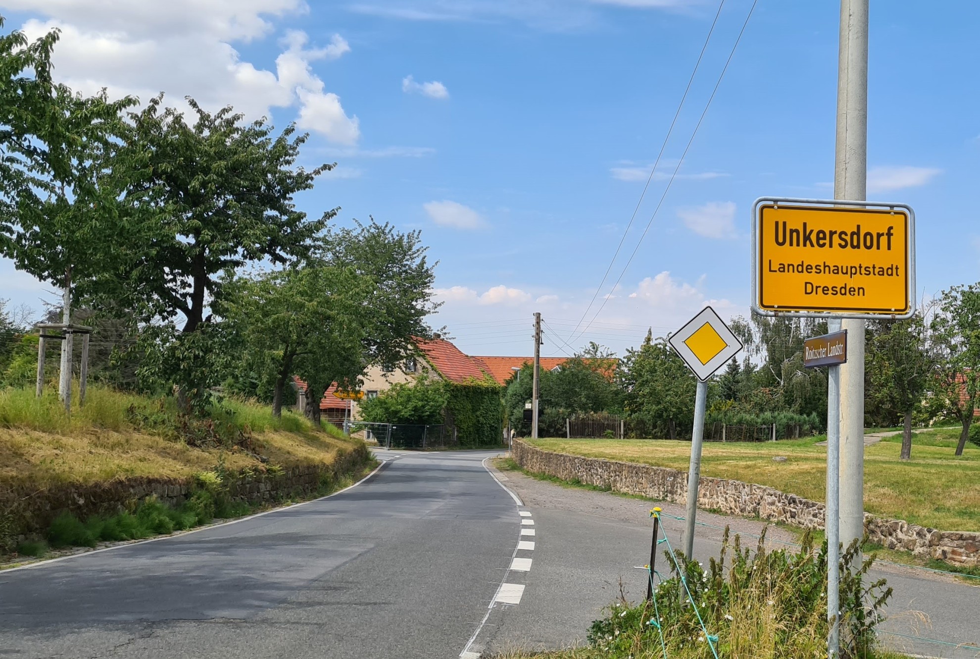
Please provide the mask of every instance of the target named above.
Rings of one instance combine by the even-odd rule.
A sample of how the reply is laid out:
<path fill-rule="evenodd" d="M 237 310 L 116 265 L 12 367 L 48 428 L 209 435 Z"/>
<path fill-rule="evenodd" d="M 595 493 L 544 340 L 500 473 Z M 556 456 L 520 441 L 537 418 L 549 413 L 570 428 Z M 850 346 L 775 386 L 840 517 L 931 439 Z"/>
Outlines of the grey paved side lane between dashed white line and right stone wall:
<path fill-rule="evenodd" d="M 603 615 L 620 589 L 632 601 L 646 594 L 646 573 L 634 569 L 650 556 L 650 508 L 683 516 L 681 506 L 627 498 L 607 492 L 569 488 L 530 479 L 518 472 L 495 472 L 520 496 L 535 521 L 534 570 L 528 574 L 519 615 L 508 616 L 494 635 L 491 649 L 550 648 L 583 643 L 590 623 Z M 699 522 L 731 531 L 759 534 L 763 524 L 700 511 Z M 664 519 L 672 543 L 680 542 L 683 522 Z M 699 527 L 695 556 L 716 557 L 721 531 Z M 773 540 L 792 542 L 789 532 L 769 527 Z M 755 545 L 758 540 L 744 538 Z M 662 560 L 662 554 L 660 555 Z M 895 649 L 924 657 L 965 659 L 980 656 L 980 583 L 969 585 L 923 571 L 883 566 L 873 573 L 895 588 L 883 630 L 919 635 L 955 647 L 882 634 Z M 975 580 L 980 582 L 980 580 Z"/>

